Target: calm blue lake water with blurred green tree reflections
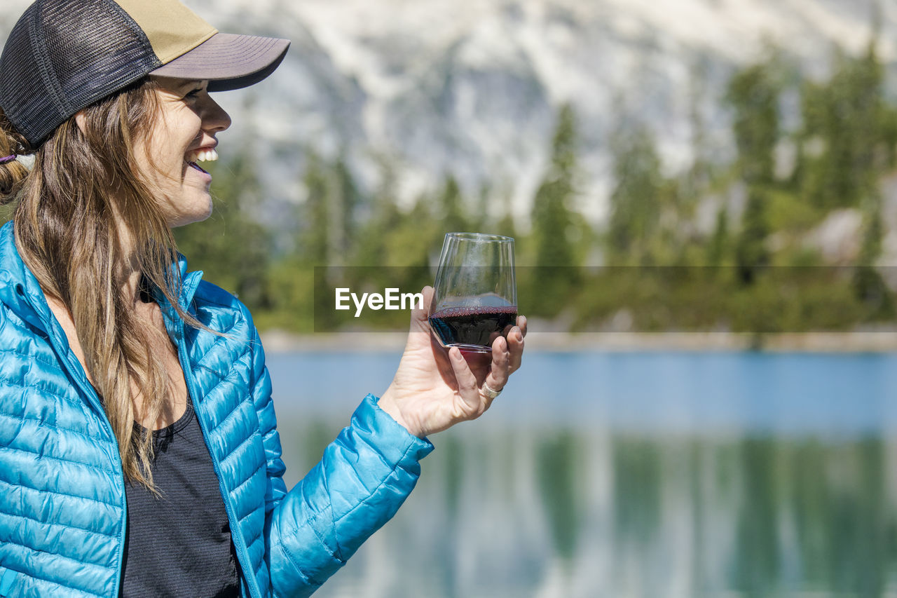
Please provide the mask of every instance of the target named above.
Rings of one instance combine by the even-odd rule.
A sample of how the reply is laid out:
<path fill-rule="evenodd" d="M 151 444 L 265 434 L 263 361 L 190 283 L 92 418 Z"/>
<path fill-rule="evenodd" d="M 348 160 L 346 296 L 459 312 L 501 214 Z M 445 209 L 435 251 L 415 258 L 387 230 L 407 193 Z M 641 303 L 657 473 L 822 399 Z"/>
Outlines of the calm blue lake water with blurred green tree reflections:
<path fill-rule="evenodd" d="M 397 356 L 269 356 L 288 481 Z M 316 596 L 897 595 L 897 356 L 543 353 Z"/>

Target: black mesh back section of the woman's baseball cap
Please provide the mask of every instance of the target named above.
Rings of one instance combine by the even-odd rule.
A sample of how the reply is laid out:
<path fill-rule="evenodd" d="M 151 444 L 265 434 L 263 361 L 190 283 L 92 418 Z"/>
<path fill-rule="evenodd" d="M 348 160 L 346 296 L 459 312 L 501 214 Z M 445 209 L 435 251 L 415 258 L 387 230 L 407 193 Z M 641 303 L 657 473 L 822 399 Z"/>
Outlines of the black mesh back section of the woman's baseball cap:
<path fill-rule="evenodd" d="M 144 32 L 112 0 L 38 0 L 0 57 L 0 107 L 36 147 L 78 110 L 159 66 Z"/>

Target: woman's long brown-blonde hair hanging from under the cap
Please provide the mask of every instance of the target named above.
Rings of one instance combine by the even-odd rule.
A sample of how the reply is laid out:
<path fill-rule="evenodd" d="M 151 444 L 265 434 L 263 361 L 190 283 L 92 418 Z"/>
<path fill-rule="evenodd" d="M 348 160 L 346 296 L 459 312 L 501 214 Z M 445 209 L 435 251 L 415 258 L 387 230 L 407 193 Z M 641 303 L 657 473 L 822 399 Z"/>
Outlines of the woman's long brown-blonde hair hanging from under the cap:
<path fill-rule="evenodd" d="M 109 96 L 82 110 L 83 131 L 72 117 L 35 150 L 0 114 L 0 156 L 34 154 L 30 171 L 17 162 L 0 165 L 0 204 L 18 198 L 16 247 L 44 292 L 72 314 L 126 479 L 151 489 L 152 434 L 135 430 L 132 383 L 144 420 L 155 421 L 170 378 L 149 350 L 151 330 L 136 320 L 122 273 L 124 260 L 136 260 L 144 279 L 177 306 L 174 238 L 159 189 L 143 180 L 135 159 L 160 114 L 156 90 L 146 78 Z"/>

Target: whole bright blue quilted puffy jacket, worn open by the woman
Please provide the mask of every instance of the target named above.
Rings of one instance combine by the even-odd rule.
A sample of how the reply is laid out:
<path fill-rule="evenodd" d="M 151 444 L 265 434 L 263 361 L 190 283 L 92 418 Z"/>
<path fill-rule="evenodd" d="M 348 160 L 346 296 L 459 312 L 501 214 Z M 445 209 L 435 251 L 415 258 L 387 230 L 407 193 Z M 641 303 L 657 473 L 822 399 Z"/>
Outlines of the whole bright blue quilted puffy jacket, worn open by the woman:
<path fill-rule="evenodd" d="M 162 304 L 221 483 L 244 596 L 307 596 L 395 514 L 432 445 L 366 397 L 290 492 L 271 382 L 246 308 L 185 274 Z M 0 230 L 0 596 L 118 596 L 126 501 L 118 444 L 11 224 Z"/>

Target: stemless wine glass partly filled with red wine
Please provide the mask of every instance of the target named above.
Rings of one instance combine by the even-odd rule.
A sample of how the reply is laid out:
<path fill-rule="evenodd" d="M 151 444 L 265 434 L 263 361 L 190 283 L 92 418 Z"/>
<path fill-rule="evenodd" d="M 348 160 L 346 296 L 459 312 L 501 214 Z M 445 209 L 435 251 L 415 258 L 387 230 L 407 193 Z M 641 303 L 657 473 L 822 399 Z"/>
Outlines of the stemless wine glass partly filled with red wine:
<path fill-rule="evenodd" d="M 430 327 L 443 347 L 488 353 L 517 323 L 514 239 L 448 233 L 436 270 Z"/>

